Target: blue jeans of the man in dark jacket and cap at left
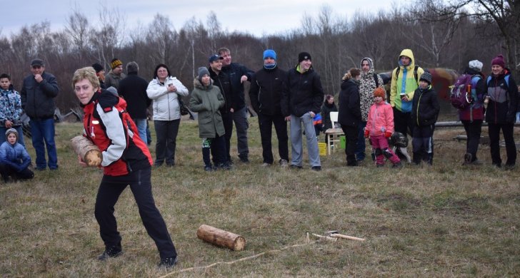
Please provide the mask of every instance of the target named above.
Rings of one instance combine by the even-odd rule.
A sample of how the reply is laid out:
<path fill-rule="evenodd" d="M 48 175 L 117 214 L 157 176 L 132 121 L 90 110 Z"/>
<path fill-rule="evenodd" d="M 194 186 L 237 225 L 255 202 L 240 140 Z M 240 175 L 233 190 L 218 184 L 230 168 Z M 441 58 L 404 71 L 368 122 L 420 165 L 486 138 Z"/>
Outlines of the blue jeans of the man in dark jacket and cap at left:
<path fill-rule="evenodd" d="M 34 150 L 36 150 L 36 168 L 45 169 L 45 148 L 49 156 L 49 168 L 58 168 L 58 155 L 56 154 L 56 143 L 54 143 L 54 118 L 45 120 L 33 120 L 31 125 L 31 135 Z"/>

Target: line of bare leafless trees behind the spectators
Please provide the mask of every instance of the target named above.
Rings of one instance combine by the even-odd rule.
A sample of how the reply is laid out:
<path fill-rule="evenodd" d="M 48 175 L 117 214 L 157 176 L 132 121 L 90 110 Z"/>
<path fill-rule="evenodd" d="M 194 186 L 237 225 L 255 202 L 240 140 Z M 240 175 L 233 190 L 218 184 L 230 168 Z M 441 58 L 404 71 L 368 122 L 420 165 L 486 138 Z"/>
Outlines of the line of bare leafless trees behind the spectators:
<path fill-rule="evenodd" d="M 44 21 L 9 37 L 0 33 L 0 71 L 9 73 L 20 91 L 31 59 L 43 58 L 46 71 L 56 76 L 61 88 L 56 104 L 68 110 L 78 105 L 70 83 L 74 71 L 101 63 L 108 72 L 114 57 L 125 66 L 136 61 L 139 75 L 147 80 L 158 63 L 165 63 L 191 91 L 196 68 L 207 66 L 207 58 L 220 47 L 229 48 L 233 61 L 254 71 L 261 68 L 266 48 L 276 51 L 284 69 L 294 67 L 298 53 L 307 51 L 330 94 L 339 93 L 341 76 L 359 67 L 361 58 L 373 58 L 378 72 L 390 71 L 404 48 L 414 51 L 416 64 L 423 68 L 460 72 L 468 61 L 479 59 L 484 73 L 489 73 L 491 59 L 503 53 L 516 76 L 520 62 L 520 3 L 512 0 L 412 1 L 350 19 L 325 4 L 317 16 L 303 15 L 299 29 L 262 37 L 223 30 L 212 11 L 205 22 L 192 17 L 180 29 L 162 14 L 131 30 L 117 10 L 101 9 L 98 17 L 90 20 L 73 10 L 61 31 L 51 31 Z"/>

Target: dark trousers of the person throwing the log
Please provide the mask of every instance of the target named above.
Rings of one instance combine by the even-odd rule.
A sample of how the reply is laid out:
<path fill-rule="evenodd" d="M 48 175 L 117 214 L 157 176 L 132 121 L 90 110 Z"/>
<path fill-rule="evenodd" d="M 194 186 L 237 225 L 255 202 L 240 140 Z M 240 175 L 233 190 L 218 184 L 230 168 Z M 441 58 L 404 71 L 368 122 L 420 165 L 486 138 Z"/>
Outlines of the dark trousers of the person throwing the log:
<path fill-rule="evenodd" d="M 119 195 L 130 185 L 134 194 L 141 221 L 148 235 L 154 240 L 161 258 L 176 257 L 174 243 L 164 223 L 161 212 L 155 206 L 154 196 L 151 193 L 151 168 L 135 170 L 128 175 L 104 175 L 99 185 L 96 197 L 94 215 L 99 224 L 99 235 L 106 247 L 121 246 L 121 235 L 117 231 L 114 205 Z"/>

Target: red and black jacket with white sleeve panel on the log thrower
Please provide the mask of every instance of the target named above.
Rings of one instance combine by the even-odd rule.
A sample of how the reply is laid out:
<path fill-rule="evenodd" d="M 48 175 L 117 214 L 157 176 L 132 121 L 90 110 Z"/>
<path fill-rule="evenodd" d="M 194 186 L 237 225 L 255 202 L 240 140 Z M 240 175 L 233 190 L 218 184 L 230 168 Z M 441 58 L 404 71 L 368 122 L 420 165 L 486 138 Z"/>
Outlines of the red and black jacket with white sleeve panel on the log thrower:
<path fill-rule="evenodd" d="M 102 90 L 94 93 L 83 110 L 84 136 L 101 150 L 104 175 L 127 175 L 152 165 L 148 147 L 139 138 L 124 99 Z"/>

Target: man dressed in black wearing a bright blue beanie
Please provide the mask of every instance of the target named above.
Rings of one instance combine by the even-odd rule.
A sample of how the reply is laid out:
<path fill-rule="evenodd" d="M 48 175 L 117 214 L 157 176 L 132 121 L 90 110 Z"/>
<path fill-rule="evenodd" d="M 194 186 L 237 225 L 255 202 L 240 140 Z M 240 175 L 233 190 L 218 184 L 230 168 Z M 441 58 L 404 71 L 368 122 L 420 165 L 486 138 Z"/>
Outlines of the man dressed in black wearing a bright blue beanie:
<path fill-rule="evenodd" d="M 264 68 L 256 71 L 251 78 L 249 98 L 251 99 L 251 106 L 258 114 L 262 157 L 264 158 L 262 166 L 272 165 L 274 161 L 271 150 L 273 124 L 278 138 L 279 163 L 282 167 L 286 167 L 289 161 L 287 122 L 284 115 L 281 114 L 281 95 L 286 76 L 286 71 L 276 65 L 276 52 L 267 49 L 264 51 Z"/>

